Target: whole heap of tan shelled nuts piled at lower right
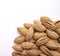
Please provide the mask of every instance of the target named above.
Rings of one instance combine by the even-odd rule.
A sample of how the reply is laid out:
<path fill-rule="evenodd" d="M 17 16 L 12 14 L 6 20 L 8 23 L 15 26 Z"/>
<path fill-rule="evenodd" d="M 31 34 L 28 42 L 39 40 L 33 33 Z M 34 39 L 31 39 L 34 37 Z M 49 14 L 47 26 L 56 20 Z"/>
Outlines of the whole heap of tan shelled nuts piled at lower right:
<path fill-rule="evenodd" d="M 12 56 L 60 56 L 60 21 L 42 16 L 34 24 L 18 27 Z"/>

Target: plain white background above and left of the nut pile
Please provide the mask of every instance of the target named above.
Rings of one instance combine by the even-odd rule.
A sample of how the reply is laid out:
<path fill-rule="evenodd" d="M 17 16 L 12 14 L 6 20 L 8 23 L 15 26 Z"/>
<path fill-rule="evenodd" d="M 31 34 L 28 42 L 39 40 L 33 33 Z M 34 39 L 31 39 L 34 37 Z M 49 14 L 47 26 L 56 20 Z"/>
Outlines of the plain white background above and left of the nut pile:
<path fill-rule="evenodd" d="M 12 56 L 17 27 L 40 16 L 60 19 L 60 0 L 0 0 L 0 56 Z"/>

